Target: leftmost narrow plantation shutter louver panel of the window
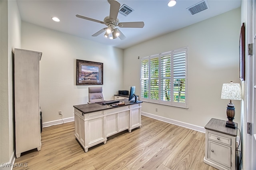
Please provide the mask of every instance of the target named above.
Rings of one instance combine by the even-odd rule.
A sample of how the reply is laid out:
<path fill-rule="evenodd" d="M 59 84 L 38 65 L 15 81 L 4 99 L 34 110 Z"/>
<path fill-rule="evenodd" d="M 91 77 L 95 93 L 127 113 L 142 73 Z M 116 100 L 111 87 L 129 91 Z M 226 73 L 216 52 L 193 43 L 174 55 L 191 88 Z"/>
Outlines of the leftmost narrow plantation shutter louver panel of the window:
<path fill-rule="evenodd" d="M 149 59 L 141 61 L 141 97 L 148 98 Z"/>

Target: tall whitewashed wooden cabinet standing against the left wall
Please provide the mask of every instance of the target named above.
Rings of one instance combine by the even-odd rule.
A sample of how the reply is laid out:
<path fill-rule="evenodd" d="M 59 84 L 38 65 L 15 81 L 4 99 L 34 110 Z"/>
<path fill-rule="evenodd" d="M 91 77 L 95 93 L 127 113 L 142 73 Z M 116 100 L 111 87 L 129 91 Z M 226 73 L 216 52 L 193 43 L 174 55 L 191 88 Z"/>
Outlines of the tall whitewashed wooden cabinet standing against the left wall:
<path fill-rule="evenodd" d="M 14 105 L 16 158 L 41 149 L 39 61 L 42 52 L 14 49 Z"/>

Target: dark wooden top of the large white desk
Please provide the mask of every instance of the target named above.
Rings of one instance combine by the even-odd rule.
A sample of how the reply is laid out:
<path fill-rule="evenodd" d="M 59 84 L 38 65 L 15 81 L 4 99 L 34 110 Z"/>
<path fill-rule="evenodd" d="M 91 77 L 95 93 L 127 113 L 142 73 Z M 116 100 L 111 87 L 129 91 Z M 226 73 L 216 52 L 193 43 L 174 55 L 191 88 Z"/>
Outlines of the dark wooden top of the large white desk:
<path fill-rule="evenodd" d="M 128 106 L 128 105 L 135 105 L 137 103 L 142 103 L 142 101 L 137 101 L 137 103 L 130 103 L 128 101 L 128 99 L 121 99 L 120 101 L 124 101 L 125 105 L 120 105 L 120 106 L 110 106 L 110 105 L 99 105 L 97 103 L 90 103 L 90 104 L 83 104 L 83 105 L 75 105 L 73 106 L 74 108 L 78 109 L 79 111 L 81 111 L 82 113 L 86 114 L 86 113 L 92 113 L 92 112 L 96 112 L 96 111 L 104 111 L 107 109 L 113 109 L 116 107 L 123 107 L 123 106 Z M 109 106 L 109 107 L 106 107 Z"/>

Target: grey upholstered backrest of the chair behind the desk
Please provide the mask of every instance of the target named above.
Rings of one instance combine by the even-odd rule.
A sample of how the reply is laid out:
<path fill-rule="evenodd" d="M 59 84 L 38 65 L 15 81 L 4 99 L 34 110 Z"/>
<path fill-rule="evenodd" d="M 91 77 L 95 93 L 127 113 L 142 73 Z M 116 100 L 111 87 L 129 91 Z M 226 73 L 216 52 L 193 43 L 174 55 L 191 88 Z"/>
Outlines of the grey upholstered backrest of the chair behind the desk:
<path fill-rule="evenodd" d="M 95 102 L 101 102 L 104 101 L 104 97 L 102 94 L 102 87 L 88 87 L 89 92 L 89 102 L 95 103 Z"/>

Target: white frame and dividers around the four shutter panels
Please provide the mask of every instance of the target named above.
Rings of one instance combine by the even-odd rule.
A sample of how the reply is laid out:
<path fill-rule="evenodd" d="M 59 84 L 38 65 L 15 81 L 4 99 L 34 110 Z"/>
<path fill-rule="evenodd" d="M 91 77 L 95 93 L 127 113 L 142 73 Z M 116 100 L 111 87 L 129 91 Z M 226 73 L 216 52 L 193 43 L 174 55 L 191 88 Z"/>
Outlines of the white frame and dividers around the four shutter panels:
<path fill-rule="evenodd" d="M 180 52 L 185 52 L 185 102 L 175 102 L 174 99 L 174 54 L 175 53 L 180 53 Z M 163 101 L 161 99 L 161 57 L 165 55 L 170 55 L 170 61 L 171 61 L 171 76 L 170 76 L 170 101 Z M 155 103 L 155 104 L 160 104 L 160 105 L 168 105 L 168 106 L 173 106 L 173 107 L 180 107 L 180 108 L 185 108 L 188 109 L 188 60 L 187 60 L 187 55 L 188 55 L 188 47 L 180 48 L 180 49 L 175 49 L 172 51 L 156 54 L 156 55 L 150 55 L 147 57 L 142 57 L 140 58 L 140 100 L 148 103 Z M 151 79 L 151 70 L 149 69 L 151 66 L 151 59 L 154 59 L 158 57 L 158 99 L 151 99 L 150 98 L 150 80 Z M 142 61 L 145 61 L 148 59 L 148 79 L 143 78 L 142 75 Z M 144 69 L 145 70 L 145 69 Z M 148 80 L 148 98 L 142 97 L 142 80 Z"/>

